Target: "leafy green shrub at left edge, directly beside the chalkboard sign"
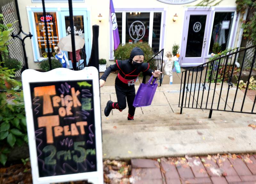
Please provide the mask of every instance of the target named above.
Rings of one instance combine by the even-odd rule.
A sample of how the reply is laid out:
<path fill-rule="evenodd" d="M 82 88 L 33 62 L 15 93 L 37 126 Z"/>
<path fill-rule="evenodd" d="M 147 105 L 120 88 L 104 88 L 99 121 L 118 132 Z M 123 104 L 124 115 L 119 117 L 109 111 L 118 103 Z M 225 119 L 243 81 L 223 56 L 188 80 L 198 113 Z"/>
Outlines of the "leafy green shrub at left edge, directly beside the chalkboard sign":
<path fill-rule="evenodd" d="M 0 163 L 3 165 L 11 148 L 28 143 L 23 93 L 14 91 L 21 87 L 13 79 L 14 73 L 14 69 L 0 66 L 0 89 L 6 91 L 0 93 Z M 7 95 L 12 97 L 12 103 L 7 101 Z"/>

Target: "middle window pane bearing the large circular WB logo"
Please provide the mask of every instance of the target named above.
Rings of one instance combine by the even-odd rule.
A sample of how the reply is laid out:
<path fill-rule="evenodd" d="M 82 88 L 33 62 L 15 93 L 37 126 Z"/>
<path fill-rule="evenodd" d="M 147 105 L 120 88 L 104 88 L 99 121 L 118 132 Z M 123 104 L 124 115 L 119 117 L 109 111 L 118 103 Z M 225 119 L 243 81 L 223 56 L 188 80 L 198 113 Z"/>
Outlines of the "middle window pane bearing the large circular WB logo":
<path fill-rule="evenodd" d="M 126 13 L 125 43 L 148 42 L 149 13 L 131 13 Z"/>

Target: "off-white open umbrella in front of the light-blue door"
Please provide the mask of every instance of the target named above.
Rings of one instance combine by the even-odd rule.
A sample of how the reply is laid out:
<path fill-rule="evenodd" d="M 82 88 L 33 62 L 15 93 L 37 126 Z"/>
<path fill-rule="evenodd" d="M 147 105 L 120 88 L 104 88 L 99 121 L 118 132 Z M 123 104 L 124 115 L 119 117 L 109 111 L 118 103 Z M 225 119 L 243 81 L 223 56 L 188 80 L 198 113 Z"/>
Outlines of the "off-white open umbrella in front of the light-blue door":
<path fill-rule="evenodd" d="M 76 51 L 84 47 L 84 39 L 81 36 L 75 35 Z M 57 44 L 62 51 L 72 52 L 71 35 L 65 36 L 60 39 Z"/>

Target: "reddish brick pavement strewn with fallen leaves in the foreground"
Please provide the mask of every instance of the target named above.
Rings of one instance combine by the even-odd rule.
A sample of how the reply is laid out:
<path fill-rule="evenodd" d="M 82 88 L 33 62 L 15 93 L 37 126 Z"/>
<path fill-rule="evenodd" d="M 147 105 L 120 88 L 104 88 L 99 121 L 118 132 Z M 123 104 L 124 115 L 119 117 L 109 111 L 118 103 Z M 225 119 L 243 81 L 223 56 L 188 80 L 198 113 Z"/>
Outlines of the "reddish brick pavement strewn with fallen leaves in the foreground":
<path fill-rule="evenodd" d="M 133 184 L 256 184 L 256 155 L 131 159 Z"/>

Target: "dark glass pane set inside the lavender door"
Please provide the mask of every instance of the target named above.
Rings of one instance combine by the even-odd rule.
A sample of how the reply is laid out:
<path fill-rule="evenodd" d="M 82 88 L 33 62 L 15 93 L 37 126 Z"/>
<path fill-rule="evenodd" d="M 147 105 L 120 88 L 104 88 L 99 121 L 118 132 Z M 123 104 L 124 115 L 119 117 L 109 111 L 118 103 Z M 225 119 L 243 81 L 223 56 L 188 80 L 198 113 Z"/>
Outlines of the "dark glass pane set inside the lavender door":
<path fill-rule="evenodd" d="M 190 15 L 186 57 L 201 57 L 207 15 Z"/>

